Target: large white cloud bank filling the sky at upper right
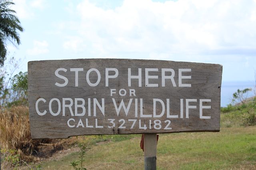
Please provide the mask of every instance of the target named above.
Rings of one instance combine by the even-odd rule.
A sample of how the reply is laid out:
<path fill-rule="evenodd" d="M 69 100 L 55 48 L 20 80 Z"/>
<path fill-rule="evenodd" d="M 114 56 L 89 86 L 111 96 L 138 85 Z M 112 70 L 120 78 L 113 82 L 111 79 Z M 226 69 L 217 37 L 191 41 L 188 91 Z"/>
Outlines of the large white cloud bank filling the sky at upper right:
<path fill-rule="evenodd" d="M 66 22 L 62 31 L 68 36 L 70 30 L 77 33 L 86 44 L 84 50 L 98 55 L 137 52 L 152 57 L 161 53 L 167 59 L 172 55 L 234 55 L 234 49 L 254 55 L 256 50 L 253 0 L 124 0 L 114 9 L 84 0 L 76 10 L 80 21 Z M 74 49 L 77 41 L 69 42 Z"/>

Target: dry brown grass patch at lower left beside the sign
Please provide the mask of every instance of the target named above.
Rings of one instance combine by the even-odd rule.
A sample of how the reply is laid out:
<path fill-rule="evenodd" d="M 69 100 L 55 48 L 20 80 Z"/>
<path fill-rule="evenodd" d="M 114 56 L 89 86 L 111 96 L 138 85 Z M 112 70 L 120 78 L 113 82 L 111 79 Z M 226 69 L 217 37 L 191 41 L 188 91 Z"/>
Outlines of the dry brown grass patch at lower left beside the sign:
<path fill-rule="evenodd" d="M 0 109 L 1 164 L 12 169 L 28 162 L 50 158 L 56 151 L 76 142 L 72 139 L 37 139 L 30 136 L 28 107 L 13 106 Z"/>

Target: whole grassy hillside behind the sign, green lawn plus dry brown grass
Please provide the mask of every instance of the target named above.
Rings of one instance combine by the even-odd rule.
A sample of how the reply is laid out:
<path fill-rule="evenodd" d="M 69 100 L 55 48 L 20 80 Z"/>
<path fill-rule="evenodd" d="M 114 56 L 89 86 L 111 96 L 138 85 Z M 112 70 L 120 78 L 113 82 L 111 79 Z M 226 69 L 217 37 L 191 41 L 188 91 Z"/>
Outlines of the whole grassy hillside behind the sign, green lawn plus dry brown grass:
<path fill-rule="evenodd" d="M 141 135 L 90 135 L 64 140 L 31 141 L 29 131 L 21 134 L 16 128 L 29 128 L 27 107 L 13 107 L 2 113 L 6 114 L 0 117 L 1 133 L 6 135 L 0 138 L 1 144 L 6 143 L 9 149 L 21 147 L 13 153 L 7 150 L 7 155 L 2 152 L 1 162 L 6 166 L 4 169 L 12 169 L 10 164 L 13 164 L 17 169 L 70 170 L 71 162 L 79 160 L 79 144 L 85 146 L 83 167 L 88 170 L 143 169 Z M 4 126 L 8 123 L 4 121 L 10 119 L 15 120 L 10 124 L 12 126 Z M 157 167 L 162 170 L 256 169 L 255 125 L 256 101 L 252 100 L 245 105 L 221 108 L 220 132 L 160 134 Z M 29 144 L 29 148 L 26 148 L 26 144 Z M 29 150 L 32 154 L 26 154 Z"/>

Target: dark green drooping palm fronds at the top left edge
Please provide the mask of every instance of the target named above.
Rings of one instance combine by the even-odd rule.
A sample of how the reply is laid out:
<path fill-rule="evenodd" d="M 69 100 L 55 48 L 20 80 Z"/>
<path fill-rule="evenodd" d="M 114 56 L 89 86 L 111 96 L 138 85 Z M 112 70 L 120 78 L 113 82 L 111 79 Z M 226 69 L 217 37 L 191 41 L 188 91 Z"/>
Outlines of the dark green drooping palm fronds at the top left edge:
<path fill-rule="evenodd" d="M 6 58 L 7 41 L 20 45 L 20 36 L 17 31 L 23 31 L 20 20 L 15 15 L 16 12 L 10 9 L 11 5 L 14 5 L 12 0 L 0 0 L 0 65 L 4 64 Z"/>

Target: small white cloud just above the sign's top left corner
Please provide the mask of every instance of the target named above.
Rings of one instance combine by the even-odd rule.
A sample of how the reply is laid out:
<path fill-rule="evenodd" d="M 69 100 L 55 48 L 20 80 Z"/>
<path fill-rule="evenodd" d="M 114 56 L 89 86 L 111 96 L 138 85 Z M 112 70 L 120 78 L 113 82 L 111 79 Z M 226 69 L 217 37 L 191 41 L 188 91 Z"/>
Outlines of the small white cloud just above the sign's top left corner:
<path fill-rule="evenodd" d="M 34 41 L 34 47 L 27 50 L 28 55 L 40 55 L 48 53 L 48 43 L 46 41 Z"/>

